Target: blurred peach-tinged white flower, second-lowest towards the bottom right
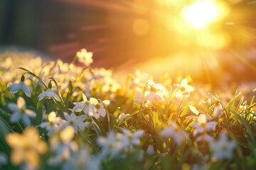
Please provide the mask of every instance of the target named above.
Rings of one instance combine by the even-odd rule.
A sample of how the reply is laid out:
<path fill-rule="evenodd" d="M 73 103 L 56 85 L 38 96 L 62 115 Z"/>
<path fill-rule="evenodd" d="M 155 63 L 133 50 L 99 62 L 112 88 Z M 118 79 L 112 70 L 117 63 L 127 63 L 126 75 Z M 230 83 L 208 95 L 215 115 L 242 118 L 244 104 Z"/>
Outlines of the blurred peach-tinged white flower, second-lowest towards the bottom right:
<path fill-rule="evenodd" d="M 181 145 L 181 143 L 188 139 L 188 134 L 186 131 L 182 130 L 176 123 L 171 123 L 169 128 L 166 128 L 160 132 L 164 137 L 171 137 L 174 139 L 176 145 Z"/>

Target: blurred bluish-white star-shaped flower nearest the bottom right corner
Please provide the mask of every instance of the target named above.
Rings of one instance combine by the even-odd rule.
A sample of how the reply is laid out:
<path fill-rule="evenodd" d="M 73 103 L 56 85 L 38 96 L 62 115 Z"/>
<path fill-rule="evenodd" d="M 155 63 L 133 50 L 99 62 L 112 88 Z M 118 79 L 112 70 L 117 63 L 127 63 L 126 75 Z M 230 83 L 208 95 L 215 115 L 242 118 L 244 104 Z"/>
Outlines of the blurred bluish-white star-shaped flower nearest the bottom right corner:
<path fill-rule="evenodd" d="M 213 151 L 213 159 L 231 159 L 235 146 L 235 142 L 228 140 L 225 132 L 221 132 L 220 138 L 210 145 L 210 149 Z"/>

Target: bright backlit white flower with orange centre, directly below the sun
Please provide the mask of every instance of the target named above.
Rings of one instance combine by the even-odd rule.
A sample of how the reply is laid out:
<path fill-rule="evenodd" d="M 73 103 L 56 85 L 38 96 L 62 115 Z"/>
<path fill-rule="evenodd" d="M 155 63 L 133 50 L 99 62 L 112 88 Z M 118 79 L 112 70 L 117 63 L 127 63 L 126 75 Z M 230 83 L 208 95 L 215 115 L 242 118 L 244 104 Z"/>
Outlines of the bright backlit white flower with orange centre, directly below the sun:
<path fill-rule="evenodd" d="M 189 97 L 191 91 L 194 91 L 193 86 L 188 85 L 188 79 L 183 79 L 181 84 L 174 84 L 176 86 L 176 98 Z"/>

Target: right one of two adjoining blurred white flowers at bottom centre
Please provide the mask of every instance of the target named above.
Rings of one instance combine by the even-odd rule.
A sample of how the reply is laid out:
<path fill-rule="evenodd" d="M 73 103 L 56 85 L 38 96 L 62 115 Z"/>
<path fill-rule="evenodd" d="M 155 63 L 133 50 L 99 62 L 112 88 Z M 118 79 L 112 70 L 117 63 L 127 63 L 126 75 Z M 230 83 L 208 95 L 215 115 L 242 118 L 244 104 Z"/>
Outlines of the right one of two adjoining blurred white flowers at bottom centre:
<path fill-rule="evenodd" d="M 143 130 L 137 130 L 136 132 L 132 133 L 131 131 L 123 128 L 122 135 L 119 137 L 119 139 L 122 141 L 124 146 L 132 147 L 132 145 L 140 144 L 139 137 L 142 137 L 142 135 L 144 135 Z"/>

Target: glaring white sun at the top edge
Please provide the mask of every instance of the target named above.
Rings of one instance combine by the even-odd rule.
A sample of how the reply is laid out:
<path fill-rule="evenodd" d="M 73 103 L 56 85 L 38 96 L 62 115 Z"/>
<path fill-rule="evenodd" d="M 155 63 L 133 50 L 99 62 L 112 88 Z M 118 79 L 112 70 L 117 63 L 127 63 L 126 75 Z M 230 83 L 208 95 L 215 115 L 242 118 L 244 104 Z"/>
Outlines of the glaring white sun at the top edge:
<path fill-rule="evenodd" d="M 195 28 L 203 28 L 216 21 L 223 13 L 220 5 L 215 1 L 201 0 L 194 2 L 191 6 L 183 8 L 182 15 Z"/>

